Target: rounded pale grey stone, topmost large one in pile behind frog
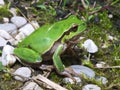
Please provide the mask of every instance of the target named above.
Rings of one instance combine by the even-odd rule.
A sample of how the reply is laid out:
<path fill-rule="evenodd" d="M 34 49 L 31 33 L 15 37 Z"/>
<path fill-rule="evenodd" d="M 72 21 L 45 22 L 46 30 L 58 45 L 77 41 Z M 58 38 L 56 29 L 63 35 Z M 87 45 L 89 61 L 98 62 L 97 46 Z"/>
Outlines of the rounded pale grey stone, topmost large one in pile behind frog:
<path fill-rule="evenodd" d="M 21 16 L 14 16 L 11 18 L 11 22 L 14 23 L 18 28 L 25 25 L 27 20 Z"/>

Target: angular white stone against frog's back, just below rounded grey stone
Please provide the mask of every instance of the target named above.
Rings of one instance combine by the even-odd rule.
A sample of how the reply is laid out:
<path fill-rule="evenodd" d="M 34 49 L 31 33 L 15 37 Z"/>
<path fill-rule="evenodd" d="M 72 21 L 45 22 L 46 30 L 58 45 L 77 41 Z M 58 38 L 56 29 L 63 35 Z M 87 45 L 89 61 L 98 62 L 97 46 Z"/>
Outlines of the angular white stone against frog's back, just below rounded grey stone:
<path fill-rule="evenodd" d="M 26 36 L 30 35 L 32 32 L 34 32 L 34 28 L 31 24 L 26 24 L 22 28 L 19 29 L 19 32 L 24 33 Z"/>

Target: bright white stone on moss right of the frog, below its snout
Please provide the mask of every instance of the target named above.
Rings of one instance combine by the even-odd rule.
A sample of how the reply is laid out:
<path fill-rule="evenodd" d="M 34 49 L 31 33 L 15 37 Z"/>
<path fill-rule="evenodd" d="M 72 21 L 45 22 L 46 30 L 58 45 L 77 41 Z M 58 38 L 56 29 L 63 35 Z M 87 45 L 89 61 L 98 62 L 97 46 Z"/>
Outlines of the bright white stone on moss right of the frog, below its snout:
<path fill-rule="evenodd" d="M 83 46 L 87 49 L 89 53 L 95 53 L 98 51 L 98 47 L 91 39 L 86 40 Z"/>

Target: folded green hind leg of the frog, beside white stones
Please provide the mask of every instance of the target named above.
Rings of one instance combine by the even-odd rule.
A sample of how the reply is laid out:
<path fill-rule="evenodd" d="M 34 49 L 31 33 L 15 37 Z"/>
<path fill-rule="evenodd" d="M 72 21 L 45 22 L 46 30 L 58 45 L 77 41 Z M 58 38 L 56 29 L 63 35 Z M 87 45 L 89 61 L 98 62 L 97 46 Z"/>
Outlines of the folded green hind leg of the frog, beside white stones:
<path fill-rule="evenodd" d="M 42 61 L 40 55 L 29 48 L 15 48 L 14 54 L 19 57 L 23 62 L 38 63 Z"/>

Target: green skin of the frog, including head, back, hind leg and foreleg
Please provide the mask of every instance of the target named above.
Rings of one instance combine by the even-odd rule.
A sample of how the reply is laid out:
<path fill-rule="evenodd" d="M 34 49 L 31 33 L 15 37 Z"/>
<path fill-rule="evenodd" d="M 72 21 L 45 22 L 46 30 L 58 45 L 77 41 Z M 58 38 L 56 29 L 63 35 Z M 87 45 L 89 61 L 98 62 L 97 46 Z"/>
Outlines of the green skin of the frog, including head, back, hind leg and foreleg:
<path fill-rule="evenodd" d="M 75 26 L 77 26 L 77 30 L 72 31 L 71 28 Z M 64 65 L 61 62 L 60 54 L 65 49 L 65 40 L 75 37 L 85 29 L 85 22 L 71 15 L 65 20 L 40 27 L 20 42 L 14 50 L 14 53 L 21 60 L 29 63 L 40 63 L 42 59 L 50 55 L 56 69 L 63 71 Z M 66 35 L 66 32 L 69 32 L 69 34 Z M 57 47 L 54 47 L 55 44 Z M 52 51 L 50 51 L 51 49 Z"/>

